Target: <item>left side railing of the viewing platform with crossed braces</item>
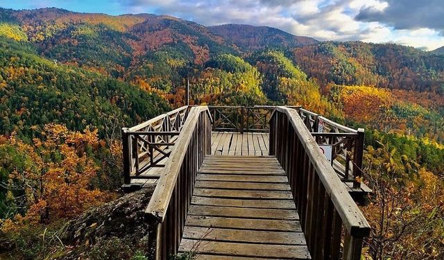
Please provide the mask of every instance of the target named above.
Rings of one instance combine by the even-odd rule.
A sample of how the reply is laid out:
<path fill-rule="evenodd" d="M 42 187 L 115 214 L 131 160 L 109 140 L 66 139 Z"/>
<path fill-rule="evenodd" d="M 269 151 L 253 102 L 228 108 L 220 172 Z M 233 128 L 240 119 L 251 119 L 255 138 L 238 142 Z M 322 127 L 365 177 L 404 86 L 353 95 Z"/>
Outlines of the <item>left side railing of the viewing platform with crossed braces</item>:
<path fill-rule="evenodd" d="M 122 128 L 123 176 L 125 184 L 131 179 L 151 179 L 144 175 L 150 168 L 164 167 L 185 119 L 188 107 L 183 106 L 161 114 L 133 128 Z"/>

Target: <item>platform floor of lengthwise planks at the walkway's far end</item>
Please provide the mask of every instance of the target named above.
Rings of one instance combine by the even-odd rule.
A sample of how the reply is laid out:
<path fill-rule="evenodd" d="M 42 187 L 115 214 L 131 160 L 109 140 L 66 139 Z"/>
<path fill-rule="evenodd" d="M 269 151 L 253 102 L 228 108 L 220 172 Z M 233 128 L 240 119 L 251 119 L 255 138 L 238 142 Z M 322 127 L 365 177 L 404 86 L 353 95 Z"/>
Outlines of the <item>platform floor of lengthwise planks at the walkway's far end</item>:
<path fill-rule="evenodd" d="M 212 132 L 212 155 L 268 155 L 268 133 Z"/>

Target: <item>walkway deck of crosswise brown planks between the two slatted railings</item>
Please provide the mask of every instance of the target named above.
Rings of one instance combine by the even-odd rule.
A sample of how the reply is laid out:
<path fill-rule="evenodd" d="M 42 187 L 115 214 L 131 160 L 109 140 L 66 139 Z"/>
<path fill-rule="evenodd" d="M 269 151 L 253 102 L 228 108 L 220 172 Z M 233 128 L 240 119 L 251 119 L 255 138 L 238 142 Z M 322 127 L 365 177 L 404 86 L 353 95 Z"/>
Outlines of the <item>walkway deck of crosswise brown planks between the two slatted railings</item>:
<path fill-rule="evenodd" d="M 205 158 L 179 248 L 187 251 L 197 259 L 310 259 L 287 176 L 275 157 Z"/>

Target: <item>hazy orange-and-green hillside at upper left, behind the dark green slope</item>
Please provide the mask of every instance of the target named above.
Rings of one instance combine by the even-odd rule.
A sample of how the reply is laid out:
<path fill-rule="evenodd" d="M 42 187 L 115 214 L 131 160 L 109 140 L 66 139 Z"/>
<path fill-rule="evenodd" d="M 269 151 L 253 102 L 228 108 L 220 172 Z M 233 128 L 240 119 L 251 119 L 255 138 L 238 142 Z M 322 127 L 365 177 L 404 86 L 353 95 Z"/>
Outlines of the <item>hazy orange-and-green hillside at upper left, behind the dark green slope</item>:
<path fill-rule="evenodd" d="M 0 8 L 3 26 L 19 26 L 39 53 L 58 62 L 123 76 L 151 51 L 173 51 L 185 62 L 203 64 L 217 53 L 235 53 L 204 26 L 164 15 L 69 12 L 57 8 Z"/>

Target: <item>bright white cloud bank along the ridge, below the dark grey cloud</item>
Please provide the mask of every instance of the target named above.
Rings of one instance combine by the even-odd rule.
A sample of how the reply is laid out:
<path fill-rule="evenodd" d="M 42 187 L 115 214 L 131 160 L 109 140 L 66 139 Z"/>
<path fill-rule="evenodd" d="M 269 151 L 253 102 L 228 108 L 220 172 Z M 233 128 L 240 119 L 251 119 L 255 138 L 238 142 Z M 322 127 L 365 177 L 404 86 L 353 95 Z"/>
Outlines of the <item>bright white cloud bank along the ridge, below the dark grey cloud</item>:
<path fill-rule="evenodd" d="M 125 0 L 119 1 L 130 12 L 156 12 L 196 21 L 203 25 L 251 24 L 272 26 L 295 35 L 318 40 L 362 40 L 395 42 L 435 49 L 444 37 L 434 29 L 397 30 L 379 21 L 358 21 L 361 10 L 383 12 L 387 1 L 379 0 Z"/>

